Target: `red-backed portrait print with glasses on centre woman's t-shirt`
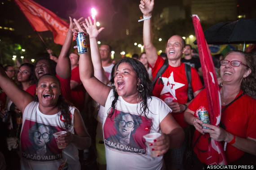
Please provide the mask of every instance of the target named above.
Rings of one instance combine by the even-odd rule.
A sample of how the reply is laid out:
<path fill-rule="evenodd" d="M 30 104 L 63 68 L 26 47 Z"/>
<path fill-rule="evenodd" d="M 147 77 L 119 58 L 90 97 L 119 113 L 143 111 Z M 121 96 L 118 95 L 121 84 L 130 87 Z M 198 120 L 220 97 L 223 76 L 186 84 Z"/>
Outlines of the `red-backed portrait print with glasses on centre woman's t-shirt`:
<path fill-rule="evenodd" d="M 106 119 L 104 125 L 104 128 L 110 128 L 110 133 L 104 132 L 106 146 L 113 150 L 145 154 L 145 139 L 142 136 L 150 133 L 151 120 L 116 109 L 115 113 L 111 120 Z"/>

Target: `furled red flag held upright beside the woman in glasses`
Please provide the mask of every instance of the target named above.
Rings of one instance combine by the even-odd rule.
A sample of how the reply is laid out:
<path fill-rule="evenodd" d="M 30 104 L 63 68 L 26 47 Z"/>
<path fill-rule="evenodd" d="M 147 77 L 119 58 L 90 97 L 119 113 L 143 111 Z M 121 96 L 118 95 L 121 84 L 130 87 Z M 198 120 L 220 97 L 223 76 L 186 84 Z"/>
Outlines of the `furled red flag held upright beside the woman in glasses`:
<path fill-rule="evenodd" d="M 215 68 L 212 62 L 211 52 L 203 35 L 203 29 L 199 17 L 193 15 L 194 31 L 199 50 L 199 57 L 203 71 L 203 80 L 209 105 L 209 115 L 211 124 L 219 126 L 221 121 L 221 95 Z M 207 165 L 227 165 L 225 153 L 221 142 L 211 139 Z"/>

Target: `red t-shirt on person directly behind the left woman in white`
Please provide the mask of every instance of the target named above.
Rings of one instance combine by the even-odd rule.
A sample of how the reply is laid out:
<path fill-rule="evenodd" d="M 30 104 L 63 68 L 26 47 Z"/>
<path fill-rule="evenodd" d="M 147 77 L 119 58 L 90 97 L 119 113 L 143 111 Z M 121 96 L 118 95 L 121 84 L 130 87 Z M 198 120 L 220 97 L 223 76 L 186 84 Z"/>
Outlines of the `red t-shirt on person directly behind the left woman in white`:
<path fill-rule="evenodd" d="M 70 101 L 70 78 L 60 78 L 57 74 L 56 77 L 60 80 L 61 82 L 61 92 L 62 92 L 62 96 L 64 97 L 65 100 Z M 36 89 L 36 84 L 31 85 L 30 87 L 28 87 L 26 89 L 26 92 L 28 92 L 29 94 L 31 94 L 32 96 L 35 95 L 35 89 Z"/>

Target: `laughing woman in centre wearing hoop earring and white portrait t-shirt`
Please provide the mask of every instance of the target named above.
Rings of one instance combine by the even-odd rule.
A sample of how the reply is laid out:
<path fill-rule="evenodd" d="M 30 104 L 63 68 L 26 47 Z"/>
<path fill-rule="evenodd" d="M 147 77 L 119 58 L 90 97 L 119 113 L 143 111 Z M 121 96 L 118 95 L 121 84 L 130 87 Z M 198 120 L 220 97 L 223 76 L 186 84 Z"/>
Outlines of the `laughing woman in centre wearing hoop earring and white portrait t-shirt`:
<path fill-rule="evenodd" d="M 91 18 L 86 19 L 86 24 L 83 25 L 85 28 L 93 25 Z M 78 24 L 77 26 L 79 32 L 83 32 Z M 95 34 L 90 34 L 90 39 L 101 30 L 98 31 L 95 27 Z M 169 148 L 180 146 L 184 140 L 184 132 L 170 114 L 172 110 L 162 100 L 151 96 L 145 66 L 132 58 L 119 61 L 113 89 L 94 77 L 92 59 L 85 53 L 80 54 L 79 74 L 89 95 L 105 106 L 102 128 L 107 169 L 160 170 L 163 166 L 163 154 Z M 142 137 L 152 132 L 162 132 L 150 144 L 153 146 L 152 150 L 159 151 L 157 157 L 148 155 L 146 140 Z"/>

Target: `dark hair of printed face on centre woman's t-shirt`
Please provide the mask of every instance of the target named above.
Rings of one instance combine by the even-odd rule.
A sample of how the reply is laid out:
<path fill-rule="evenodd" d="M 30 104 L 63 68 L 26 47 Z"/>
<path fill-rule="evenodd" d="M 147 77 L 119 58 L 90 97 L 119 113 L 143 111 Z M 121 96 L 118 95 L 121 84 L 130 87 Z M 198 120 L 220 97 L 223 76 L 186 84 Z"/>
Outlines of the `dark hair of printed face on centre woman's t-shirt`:
<path fill-rule="evenodd" d="M 117 129 L 119 127 L 119 122 L 123 120 L 123 116 L 124 115 L 130 115 L 132 116 L 132 119 L 134 121 L 134 125 L 133 128 L 134 130 L 132 131 L 132 133 L 135 133 L 136 129 L 140 126 L 140 124 L 142 123 L 142 120 L 139 116 L 135 115 L 135 114 L 131 114 L 131 113 L 124 113 L 124 112 L 120 112 L 115 118 L 115 128 L 116 130 L 119 132 L 119 129 Z"/>

